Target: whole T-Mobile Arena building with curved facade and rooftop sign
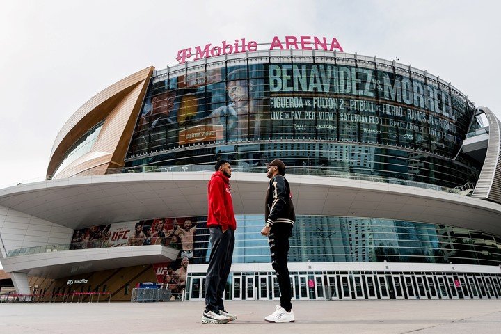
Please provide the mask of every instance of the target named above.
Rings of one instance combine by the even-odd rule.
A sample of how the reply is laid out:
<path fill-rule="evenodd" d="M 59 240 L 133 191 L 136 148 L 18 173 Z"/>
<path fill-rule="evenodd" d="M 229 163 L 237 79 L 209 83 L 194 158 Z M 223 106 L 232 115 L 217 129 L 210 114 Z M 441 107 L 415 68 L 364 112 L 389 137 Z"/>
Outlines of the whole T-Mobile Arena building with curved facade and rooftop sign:
<path fill-rule="evenodd" d="M 140 283 L 205 298 L 207 182 L 231 161 L 225 298 L 279 299 L 265 163 L 298 216 L 293 299 L 501 297 L 500 121 L 411 65 L 336 38 L 182 49 L 81 106 L 47 180 L 0 190 L 1 263 L 19 294 L 129 300 Z"/>

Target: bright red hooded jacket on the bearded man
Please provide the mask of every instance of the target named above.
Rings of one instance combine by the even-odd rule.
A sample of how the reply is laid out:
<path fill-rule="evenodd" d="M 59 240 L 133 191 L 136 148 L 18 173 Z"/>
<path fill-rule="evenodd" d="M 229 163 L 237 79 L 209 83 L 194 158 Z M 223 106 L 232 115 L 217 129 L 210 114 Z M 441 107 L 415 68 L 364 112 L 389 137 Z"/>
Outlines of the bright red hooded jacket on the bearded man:
<path fill-rule="evenodd" d="M 233 201 L 231 197 L 230 179 L 220 171 L 212 174 L 207 187 L 207 227 L 221 226 L 223 230 L 237 229 L 234 218 Z"/>

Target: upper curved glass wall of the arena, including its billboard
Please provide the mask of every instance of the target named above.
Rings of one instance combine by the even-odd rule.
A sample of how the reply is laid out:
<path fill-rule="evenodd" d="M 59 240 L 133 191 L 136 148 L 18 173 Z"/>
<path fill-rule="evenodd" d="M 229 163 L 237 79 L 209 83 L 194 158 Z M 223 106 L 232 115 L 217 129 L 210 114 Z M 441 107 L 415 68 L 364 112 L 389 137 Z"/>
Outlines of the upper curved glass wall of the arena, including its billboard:
<path fill-rule="evenodd" d="M 294 173 L 454 188 L 481 169 L 458 155 L 474 110 L 452 86 L 388 61 L 214 58 L 154 77 L 126 166 L 210 170 L 225 157 L 253 171 L 282 158 Z"/>

